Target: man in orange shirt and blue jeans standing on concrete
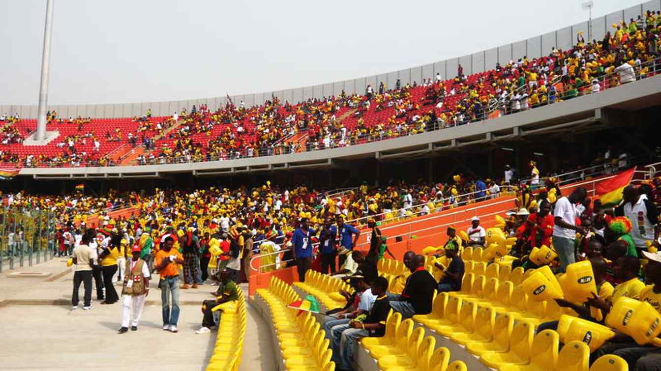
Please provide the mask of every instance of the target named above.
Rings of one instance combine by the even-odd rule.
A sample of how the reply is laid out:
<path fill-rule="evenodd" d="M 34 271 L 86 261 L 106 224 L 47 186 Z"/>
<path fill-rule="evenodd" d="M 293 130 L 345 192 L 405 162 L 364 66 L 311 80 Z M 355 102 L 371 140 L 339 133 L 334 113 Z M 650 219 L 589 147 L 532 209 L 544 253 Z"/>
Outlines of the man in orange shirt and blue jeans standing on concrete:
<path fill-rule="evenodd" d="M 167 236 L 163 248 L 156 253 L 156 271 L 161 275 L 161 305 L 163 306 L 163 330 L 177 332 L 176 322 L 179 320 L 179 269 L 177 264 L 184 263 L 184 257 L 173 250 L 175 239 Z M 170 297 L 172 296 L 172 309 Z"/>

